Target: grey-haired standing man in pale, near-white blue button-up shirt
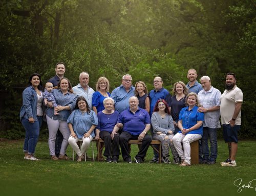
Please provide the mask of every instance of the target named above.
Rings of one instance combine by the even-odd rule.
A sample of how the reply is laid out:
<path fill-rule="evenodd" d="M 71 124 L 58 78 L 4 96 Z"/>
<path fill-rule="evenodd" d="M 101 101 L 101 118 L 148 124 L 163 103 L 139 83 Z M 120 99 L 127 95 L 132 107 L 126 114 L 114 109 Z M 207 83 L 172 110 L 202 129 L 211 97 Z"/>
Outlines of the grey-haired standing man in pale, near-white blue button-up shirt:
<path fill-rule="evenodd" d="M 74 91 L 75 94 L 77 94 L 77 97 L 79 96 L 83 96 L 90 109 L 92 110 L 93 106 L 92 106 L 92 101 L 93 101 L 93 93 L 94 90 L 92 88 L 90 88 L 89 84 L 89 74 L 87 72 L 82 72 L 79 75 L 79 84 L 77 84 L 76 86 L 74 86 L 72 89 Z"/>

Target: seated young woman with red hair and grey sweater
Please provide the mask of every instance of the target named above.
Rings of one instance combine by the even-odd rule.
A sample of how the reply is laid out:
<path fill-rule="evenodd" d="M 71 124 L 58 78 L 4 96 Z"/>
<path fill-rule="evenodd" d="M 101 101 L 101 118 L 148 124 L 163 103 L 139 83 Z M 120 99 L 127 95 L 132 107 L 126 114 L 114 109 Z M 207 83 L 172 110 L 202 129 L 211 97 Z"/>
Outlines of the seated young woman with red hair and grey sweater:
<path fill-rule="evenodd" d="M 165 100 L 159 99 L 156 102 L 154 111 L 151 117 L 151 124 L 153 127 L 153 139 L 159 140 L 163 148 L 163 162 L 170 163 L 169 160 L 169 147 L 175 149 L 172 141 L 174 137 L 174 121 L 168 110 L 168 104 Z"/>

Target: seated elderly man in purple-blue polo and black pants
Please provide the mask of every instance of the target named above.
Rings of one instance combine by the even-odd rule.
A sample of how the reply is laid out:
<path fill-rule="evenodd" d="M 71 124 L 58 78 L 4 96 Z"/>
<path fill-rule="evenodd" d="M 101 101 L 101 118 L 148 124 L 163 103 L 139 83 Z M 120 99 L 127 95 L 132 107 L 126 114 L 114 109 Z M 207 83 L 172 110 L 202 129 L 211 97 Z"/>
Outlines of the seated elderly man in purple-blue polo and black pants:
<path fill-rule="evenodd" d="M 139 153 L 135 156 L 136 163 L 142 163 L 146 156 L 146 151 L 150 147 L 151 137 L 147 135 L 150 130 L 150 115 L 142 108 L 139 108 L 139 100 L 137 97 L 129 99 L 130 108 L 124 110 L 118 117 L 118 123 L 123 125 L 123 132 L 120 135 L 120 146 L 122 151 L 123 160 L 127 163 L 132 163 L 131 156 L 129 155 L 129 140 L 141 141 Z M 112 139 L 115 137 L 119 130 L 117 125 L 111 134 Z"/>

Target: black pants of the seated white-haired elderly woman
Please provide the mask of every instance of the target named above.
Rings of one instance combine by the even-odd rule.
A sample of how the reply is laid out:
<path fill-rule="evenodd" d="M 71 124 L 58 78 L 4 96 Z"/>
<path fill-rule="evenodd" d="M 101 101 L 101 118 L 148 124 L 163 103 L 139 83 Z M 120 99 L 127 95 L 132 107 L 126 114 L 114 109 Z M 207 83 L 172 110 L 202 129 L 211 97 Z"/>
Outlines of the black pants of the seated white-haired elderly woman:
<path fill-rule="evenodd" d="M 113 149 L 113 156 L 118 157 L 120 155 L 119 136 L 119 133 L 117 133 L 114 140 L 112 140 L 110 132 L 106 132 L 104 130 L 99 132 L 99 137 L 104 140 L 105 151 L 103 155 L 105 157 L 111 156 L 111 148 Z"/>

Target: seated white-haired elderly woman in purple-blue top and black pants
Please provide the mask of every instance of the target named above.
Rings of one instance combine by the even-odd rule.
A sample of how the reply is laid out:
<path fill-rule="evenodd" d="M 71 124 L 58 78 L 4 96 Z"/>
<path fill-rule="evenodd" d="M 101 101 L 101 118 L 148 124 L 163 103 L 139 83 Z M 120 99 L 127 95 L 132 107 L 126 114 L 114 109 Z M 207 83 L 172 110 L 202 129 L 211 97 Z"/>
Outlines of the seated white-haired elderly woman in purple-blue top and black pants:
<path fill-rule="evenodd" d="M 114 126 L 117 123 L 119 113 L 113 110 L 114 100 L 110 97 L 103 100 L 103 105 L 105 109 L 98 113 L 98 126 L 96 127 L 96 137 L 95 139 L 101 138 L 104 140 L 105 151 L 104 156 L 106 157 L 106 162 L 117 163 L 120 155 L 119 150 L 119 133 L 115 135 L 115 138 L 111 139 L 111 133 Z M 113 144 L 111 144 L 113 142 Z M 111 156 L 111 147 L 113 148 L 113 155 Z"/>

